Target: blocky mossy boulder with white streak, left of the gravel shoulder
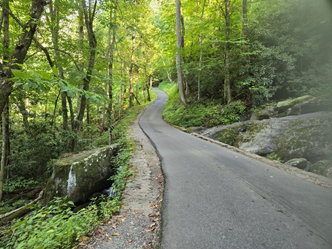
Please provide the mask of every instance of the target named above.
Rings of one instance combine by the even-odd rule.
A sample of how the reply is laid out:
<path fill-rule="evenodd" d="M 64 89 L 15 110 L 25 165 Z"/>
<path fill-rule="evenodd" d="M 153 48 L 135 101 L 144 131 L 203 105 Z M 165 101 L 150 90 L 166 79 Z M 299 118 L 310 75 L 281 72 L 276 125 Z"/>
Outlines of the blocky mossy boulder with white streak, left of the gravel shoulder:
<path fill-rule="evenodd" d="M 111 158 L 118 145 L 82 151 L 53 164 L 53 174 L 45 188 L 45 203 L 55 196 L 68 196 L 75 204 L 85 203 L 91 194 L 111 186 L 114 169 Z"/>

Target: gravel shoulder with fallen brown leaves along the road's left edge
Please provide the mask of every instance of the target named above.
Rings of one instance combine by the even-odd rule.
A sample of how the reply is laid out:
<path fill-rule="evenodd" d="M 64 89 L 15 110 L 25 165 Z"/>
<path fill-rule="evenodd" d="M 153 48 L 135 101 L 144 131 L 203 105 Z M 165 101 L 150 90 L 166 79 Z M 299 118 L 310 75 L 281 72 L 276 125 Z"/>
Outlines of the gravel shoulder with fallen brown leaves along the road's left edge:
<path fill-rule="evenodd" d="M 135 173 L 122 193 L 120 213 L 100 223 L 87 237 L 81 237 L 77 249 L 159 248 L 163 174 L 156 150 L 140 129 L 139 118 L 128 131 L 134 146 L 130 165 Z"/>

